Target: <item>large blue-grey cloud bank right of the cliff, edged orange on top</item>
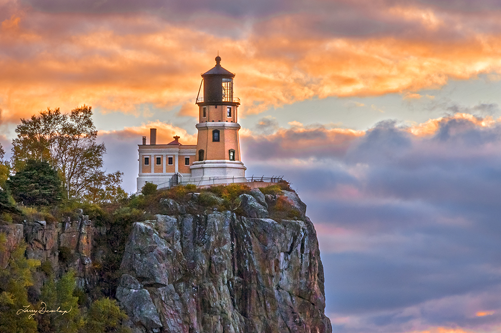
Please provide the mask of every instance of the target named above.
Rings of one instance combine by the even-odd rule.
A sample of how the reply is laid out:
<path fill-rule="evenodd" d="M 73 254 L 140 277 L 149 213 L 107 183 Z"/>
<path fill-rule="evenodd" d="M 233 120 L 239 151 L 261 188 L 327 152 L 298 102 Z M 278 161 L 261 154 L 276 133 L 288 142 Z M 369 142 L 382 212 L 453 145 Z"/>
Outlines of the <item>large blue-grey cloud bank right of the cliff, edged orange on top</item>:
<path fill-rule="evenodd" d="M 241 145 L 249 173 L 285 174 L 307 203 L 336 331 L 497 331 L 501 119 L 280 128 Z"/>

